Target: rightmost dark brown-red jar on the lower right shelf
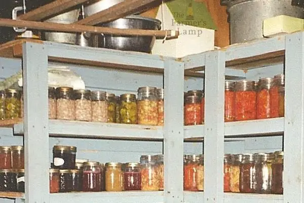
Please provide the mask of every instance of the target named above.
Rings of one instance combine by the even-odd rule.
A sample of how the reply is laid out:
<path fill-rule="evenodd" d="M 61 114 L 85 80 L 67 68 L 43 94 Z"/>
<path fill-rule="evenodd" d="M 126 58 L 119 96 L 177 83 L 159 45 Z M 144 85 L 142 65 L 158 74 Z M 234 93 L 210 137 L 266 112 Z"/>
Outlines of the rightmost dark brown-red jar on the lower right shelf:
<path fill-rule="evenodd" d="M 283 194 L 283 164 L 284 164 L 284 152 L 275 152 L 275 161 L 273 162 L 272 178 L 271 178 L 271 191 L 273 194 Z"/>

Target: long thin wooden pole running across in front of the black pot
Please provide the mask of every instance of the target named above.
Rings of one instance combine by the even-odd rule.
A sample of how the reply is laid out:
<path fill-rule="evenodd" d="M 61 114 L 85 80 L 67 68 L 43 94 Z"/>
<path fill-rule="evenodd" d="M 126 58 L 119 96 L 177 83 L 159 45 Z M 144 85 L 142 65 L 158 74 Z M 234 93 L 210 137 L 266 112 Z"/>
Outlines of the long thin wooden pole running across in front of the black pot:
<path fill-rule="evenodd" d="M 5 27 L 27 27 L 29 29 L 50 30 L 60 32 L 90 32 L 103 33 L 108 35 L 128 35 L 128 36 L 156 36 L 159 38 L 174 39 L 178 37 L 178 31 L 171 30 L 143 30 L 143 29 L 118 29 L 111 27 L 95 27 L 77 24 L 60 24 L 50 22 L 35 22 L 25 20 L 12 20 L 0 18 L 0 26 Z"/>

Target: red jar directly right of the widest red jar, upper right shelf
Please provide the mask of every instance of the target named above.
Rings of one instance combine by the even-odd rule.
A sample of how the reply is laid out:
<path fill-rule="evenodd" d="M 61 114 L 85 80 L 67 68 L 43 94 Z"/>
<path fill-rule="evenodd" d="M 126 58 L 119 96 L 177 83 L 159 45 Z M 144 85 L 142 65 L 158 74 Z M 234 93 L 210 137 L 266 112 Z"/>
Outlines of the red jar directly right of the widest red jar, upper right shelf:
<path fill-rule="evenodd" d="M 271 117 L 270 89 L 273 86 L 272 78 L 262 78 L 258 81 L 256 95 L 256 118 L 265 119 Z"/>

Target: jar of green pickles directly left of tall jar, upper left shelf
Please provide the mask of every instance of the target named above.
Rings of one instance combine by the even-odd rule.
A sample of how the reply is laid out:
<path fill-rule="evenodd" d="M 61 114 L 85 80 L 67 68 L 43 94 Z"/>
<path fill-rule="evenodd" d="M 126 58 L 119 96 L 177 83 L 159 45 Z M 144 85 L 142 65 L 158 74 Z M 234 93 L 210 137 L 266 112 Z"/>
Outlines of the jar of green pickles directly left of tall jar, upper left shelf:
<path fill-rule="evenodd" d="M 136 95 L 122 94 L 120 103 L 120 122 L 125 124 L 136 124 Z"/>

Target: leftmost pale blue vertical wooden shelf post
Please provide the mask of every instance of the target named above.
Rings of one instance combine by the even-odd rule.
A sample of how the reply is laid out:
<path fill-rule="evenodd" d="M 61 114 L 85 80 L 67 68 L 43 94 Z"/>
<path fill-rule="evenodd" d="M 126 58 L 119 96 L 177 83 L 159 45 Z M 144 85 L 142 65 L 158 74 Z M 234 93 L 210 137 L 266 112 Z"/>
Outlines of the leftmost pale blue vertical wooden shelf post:
<path fill-rule="evenodd" d="M 23 44 L 25 202 L 49 203 L 48 55 Z"/>

